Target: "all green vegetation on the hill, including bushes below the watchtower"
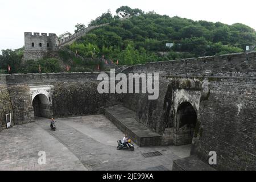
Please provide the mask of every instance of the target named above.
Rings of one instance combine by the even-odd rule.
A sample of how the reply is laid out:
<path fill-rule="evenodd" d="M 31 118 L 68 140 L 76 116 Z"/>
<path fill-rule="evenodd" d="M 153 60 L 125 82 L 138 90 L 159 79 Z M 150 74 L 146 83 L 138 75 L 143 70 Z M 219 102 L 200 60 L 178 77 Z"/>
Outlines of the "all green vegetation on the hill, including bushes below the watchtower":
<path fill-rule="evenodd" d="M 127 15 L 130 18 L 121 20 Z M 228 25 L 177 16 L 171 18 L 127 6 L 117 9 L 114 15 L 110 11 L 103 13 L 88 26 L 102 23 L 109 24 L 90 31 L 67 46 L 90 61 L 60 50 L 59 57 L 22 63 L 23 48 L 6 49 L 0 55 L 0 73 L 7 73 L 8 65 L 11 65 L 12 73 L 38 73 L 39 65 L 43 73 L 65 72 L 66 65 L 71 66 L 70 72 L 95 71 L 99 63 L 101 70 L 105 69 L 98 61 L 102 55 L 114 63 L 118 60 L 120 65 L 130 65 L 243 52 L 246 46 L 256 45 L 255 30 L 241 23 Z M 85 27 L 76 24 L 75 32 Z M 69 35 L 71 33 L 66 32 L 59 38 Z"/>

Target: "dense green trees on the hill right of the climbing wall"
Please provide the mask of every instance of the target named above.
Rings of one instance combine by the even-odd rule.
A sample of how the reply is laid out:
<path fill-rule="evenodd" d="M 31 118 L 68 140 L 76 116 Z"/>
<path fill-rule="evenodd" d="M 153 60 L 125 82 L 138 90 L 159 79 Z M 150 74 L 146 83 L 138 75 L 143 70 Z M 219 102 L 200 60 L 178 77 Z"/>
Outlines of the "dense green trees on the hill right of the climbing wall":
<path fill-rule="evenodd" d="M 241 23 L 228 25 L 178 16 L 170 18 L 128 6 L 119 7 L 116 13 L 118 16 L 113 16 L 108 11 L 92 20 L 89 25 L 110 24 L 89 32 L 69 48 L 76 51 L 77 46 L 86 47 L 90 43 L 98 50 L 94 56 L 105 55 L 120 60 L 121 64 L 137 64 L 242 52 L 246 45 L 256 44 L 256 32 Z M 132 16 L 126 20 L 119 19 L 127 15 Z M 167 47 L 166 43 L 174 46 Z M 82 56 L 89 55 L 85 48 L 80 52 Z"/>

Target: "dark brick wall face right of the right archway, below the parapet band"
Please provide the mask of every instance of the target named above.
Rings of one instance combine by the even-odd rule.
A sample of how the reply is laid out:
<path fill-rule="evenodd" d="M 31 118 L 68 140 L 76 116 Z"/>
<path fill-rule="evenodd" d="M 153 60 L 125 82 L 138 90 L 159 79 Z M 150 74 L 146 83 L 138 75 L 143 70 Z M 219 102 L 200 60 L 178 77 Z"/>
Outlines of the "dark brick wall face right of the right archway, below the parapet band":
<path fill-rule="evenodd" d="M 209 151 L 216 151 L 217 169 L 255 170 L 256 79 L 218 78 L 209 86 L 191 153 L 208 162 Z"/>

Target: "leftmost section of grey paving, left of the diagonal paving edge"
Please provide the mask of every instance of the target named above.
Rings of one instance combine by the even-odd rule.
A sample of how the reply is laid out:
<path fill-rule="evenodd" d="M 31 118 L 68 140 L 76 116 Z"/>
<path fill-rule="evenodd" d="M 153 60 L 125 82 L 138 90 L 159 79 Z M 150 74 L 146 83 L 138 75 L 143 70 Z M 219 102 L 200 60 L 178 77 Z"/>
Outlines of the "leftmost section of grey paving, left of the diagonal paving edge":
<path fill-rule="evenodd" d="M 0 170 L 87 170 L 67 147 L 36 123 L 3 130 L 0 138 Z M 46 152 L 46 165 L 38 164 L 39 151 Z"/>

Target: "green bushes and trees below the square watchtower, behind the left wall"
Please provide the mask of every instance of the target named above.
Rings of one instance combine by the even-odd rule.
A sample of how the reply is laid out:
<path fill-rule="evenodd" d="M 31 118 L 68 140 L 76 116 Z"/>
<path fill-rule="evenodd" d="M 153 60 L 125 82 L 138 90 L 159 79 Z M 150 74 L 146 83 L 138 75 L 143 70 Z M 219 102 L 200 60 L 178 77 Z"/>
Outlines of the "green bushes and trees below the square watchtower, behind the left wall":
<path fill-rule="evenodd" d="M 57 72 L 92 72 L 97 70 L 97 65 L 101 70 L 105 70 L 100 59 L 81 60 L 66 51 L 59 51 L 59 57 L 46 57 L 40 60 L 22 61 L 23 52 L 20 49 L 6 49 L 0 55 L 0 74 L 7 74 L 8 65 L 10 73 L 57 73 Z M 69 66 L 69 71 L 67 71 Z"/>

